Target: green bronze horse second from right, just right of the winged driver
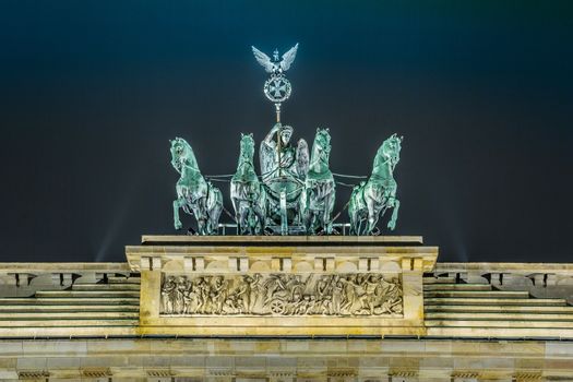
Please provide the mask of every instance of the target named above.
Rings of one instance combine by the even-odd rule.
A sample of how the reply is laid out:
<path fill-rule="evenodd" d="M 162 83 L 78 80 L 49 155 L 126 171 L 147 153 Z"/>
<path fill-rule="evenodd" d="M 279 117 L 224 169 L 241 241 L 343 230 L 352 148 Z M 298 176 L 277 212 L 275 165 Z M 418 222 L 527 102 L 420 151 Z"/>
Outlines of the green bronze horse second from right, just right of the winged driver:
<path fill-rule="evenodd" d="M 334 208 L 335 183 L 329 169 L 331 135 L 329 129 L 317 129 L 310 157 L 309 170 L 305 179 L 305 190 L 300 198 L 300 211 L 307 232 L 332 234 L 332 211 Z"/>

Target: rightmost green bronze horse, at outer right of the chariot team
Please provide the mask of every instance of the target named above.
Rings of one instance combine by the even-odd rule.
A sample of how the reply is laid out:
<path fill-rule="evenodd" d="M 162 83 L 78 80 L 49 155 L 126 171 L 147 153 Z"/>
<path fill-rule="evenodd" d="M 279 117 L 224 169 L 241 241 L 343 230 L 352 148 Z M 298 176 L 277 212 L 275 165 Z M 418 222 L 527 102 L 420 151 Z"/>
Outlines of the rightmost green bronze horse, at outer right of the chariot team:
<path fill-rule="evenodd" d="M 372 175 L 368 181 L 354 188 L 348 202 L 350 234 L 375 235 L 377 223 L 389 208 L 393 211 L 387 228 L 394 230 L 396 227 L 399 201 L 396 199 L 397 183 L 393 174 L 399 162 L 403 139 L 395 133 L 386 139 L 377 152 Z M 362 227 L 365 220 L 368 224 Z"/>

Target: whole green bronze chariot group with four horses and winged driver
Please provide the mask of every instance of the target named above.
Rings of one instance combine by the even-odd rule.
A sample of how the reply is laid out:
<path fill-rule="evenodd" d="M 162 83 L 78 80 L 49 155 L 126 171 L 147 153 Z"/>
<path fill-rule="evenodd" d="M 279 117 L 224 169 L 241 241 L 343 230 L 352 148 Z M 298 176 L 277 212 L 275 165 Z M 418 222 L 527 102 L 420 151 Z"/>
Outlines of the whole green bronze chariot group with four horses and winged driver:
<path fill-rule="evenodd" d="M 378 235 L 377 223 L 389 208 L 393 211 L 387 228 L 393 230 L 399 210 L 393 172 L 399 162 L 403 138 L 393 134 L 382 143 L 371 176 L 354 187 L 346 204 L 349 225 L 336 224 L 335 229 L 334 177 L 341 175 L 331 172 L 329 168 L 329 129 L 317 129 L 309 155 L 307 142 L 300 139 L 293 145 L 294 129 L 280 123 L 280 106 L 291 94 L 285 72 L 293 64 L 297 49 L 298 44 L 280 58 L 275 50 L 271 58 L 252 48 L 258 62 L 270 75 L 263 92 L 275 105 L 276 123 L 260 145 L 260 175 L 254 168 L 253 135 L 241 134 L 237 171 L 230 179 L 237 234 L 336 235 L 341 226 L 349 226 L 351 235 Z M 193 150 L 183 139 L 171 141 L 171 165 L 180 174 L 176 186 L 177 199 L 174 201 L 175 228 L 182 226 L 179 219 L 179 208 L 182 208 L 195 216 L 198 235 L 217 234 L 218 219 L 224 210 L 222 193 L 201 175 Z"/>

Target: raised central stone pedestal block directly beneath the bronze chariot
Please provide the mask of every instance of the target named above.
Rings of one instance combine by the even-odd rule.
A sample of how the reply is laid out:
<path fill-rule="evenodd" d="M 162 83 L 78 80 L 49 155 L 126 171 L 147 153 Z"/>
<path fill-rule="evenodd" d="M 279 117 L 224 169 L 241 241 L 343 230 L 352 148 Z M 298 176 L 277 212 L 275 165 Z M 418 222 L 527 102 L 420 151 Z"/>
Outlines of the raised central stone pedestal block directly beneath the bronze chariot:
<path fill-rule="evenodd" d="M 164 335 L 423 335 L 419 237 L 145 237 L 140 331 Z"/>

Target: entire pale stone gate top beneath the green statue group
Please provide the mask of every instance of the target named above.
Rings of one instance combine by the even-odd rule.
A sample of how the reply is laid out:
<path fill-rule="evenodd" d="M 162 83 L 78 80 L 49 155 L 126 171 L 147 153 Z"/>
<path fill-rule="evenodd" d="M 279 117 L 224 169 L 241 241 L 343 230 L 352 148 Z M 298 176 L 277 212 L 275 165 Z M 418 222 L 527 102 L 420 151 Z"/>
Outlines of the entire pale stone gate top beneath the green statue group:
<path fill-rule="evenodd" d="M 416 237 L 160 239 L 128 263 L 0 264 L 0 380 L 573 380 L 573 264 L 434 264 Z"/>

